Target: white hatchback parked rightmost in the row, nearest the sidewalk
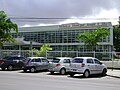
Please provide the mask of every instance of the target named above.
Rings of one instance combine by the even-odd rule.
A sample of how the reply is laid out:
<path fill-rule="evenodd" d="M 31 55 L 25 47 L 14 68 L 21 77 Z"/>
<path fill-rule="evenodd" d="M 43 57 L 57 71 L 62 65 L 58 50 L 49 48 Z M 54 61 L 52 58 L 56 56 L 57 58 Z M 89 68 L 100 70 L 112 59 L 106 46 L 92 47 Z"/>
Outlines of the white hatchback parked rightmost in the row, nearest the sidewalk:
<path fill-rule="evenodd" d="M 106 75 L 107 67 L 97 58 L 93 57 L 75 57 L 70 64 L 69 75 L 73 77 L 75 74 L 83 74 L 89 77 L 91 74 Z"/>

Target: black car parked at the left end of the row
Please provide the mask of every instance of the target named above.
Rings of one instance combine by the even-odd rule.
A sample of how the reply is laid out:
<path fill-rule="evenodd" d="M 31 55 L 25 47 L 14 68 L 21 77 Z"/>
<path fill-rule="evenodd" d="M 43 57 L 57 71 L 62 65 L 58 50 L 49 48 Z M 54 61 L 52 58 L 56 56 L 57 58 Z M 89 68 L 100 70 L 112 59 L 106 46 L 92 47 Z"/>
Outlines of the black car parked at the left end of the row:
<path fill-rule="evenodd" d="M 26 61 L 25 57 L 21 56 L 7 56 L 0 60 L 0 68 L 2 70 L 22 69 Z"/>

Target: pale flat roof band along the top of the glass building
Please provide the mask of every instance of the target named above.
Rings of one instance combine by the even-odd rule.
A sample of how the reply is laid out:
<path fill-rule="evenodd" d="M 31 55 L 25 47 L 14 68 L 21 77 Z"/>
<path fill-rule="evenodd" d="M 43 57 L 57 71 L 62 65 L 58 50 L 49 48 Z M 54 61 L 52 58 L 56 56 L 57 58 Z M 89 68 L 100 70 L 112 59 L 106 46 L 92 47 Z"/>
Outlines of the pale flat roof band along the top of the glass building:
<path fill-rule="evenodd" d="M 38 31 L 59 31 L 59 30 L 77 30 L 77 29 L 96 29 L 99 27 L 112 27 L 111 22 L 96 23 L 68 23 L 51 26 L 20 27 L 19 32 L 38 32 Z M 14 33 L 15 31 L 13 31 Z"/>

